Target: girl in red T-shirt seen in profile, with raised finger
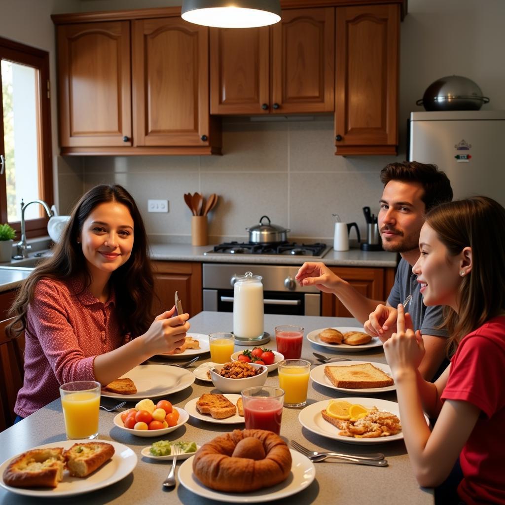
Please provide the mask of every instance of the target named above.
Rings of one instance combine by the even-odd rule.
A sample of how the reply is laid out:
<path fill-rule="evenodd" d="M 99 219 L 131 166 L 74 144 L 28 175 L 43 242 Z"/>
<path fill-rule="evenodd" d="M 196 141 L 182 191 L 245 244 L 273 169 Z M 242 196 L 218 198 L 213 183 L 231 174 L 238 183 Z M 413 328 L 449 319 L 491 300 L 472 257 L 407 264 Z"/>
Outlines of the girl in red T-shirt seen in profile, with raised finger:
<path fill-rule="evenodd" d="M 444 325 L 456 352 L 434 384 L 423 380 L 422 336 L 401 305 L 397 331 L 384 343 L 415 475 L 422 486 L 439 486 L 459 459 L 456 503 L 505 503 L 504 230 L 505 209 L 491 198 L 430 211 L 413 272 L 424 304 L 446 306 Z M 423 409 L 438 416 L 432 431 Z"/>

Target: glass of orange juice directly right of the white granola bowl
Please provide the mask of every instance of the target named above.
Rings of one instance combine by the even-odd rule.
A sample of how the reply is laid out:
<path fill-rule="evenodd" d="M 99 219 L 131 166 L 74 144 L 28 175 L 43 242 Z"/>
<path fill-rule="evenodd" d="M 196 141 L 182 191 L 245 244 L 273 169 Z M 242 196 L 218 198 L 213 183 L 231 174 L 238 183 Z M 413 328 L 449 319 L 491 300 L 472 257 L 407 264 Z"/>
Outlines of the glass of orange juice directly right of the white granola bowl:
<path fill-rule="evenodd" d="M 310 368 L 311 362 L 307 360 L 279 361 L 279 386 L 284 389 L 284 407 L 305 406 Z"/>

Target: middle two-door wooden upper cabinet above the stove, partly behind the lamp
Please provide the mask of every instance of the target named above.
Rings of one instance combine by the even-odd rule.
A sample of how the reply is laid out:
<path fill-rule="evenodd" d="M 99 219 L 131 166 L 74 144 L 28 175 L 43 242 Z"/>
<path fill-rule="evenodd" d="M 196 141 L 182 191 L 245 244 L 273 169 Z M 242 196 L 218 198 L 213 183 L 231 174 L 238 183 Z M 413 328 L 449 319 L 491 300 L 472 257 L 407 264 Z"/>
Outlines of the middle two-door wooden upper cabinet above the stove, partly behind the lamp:
<path fill-rule="evenodd" d="M 212 114 L 333 112 L 335 10 L 292 9 L 271 28 L 212 28 Z"/>

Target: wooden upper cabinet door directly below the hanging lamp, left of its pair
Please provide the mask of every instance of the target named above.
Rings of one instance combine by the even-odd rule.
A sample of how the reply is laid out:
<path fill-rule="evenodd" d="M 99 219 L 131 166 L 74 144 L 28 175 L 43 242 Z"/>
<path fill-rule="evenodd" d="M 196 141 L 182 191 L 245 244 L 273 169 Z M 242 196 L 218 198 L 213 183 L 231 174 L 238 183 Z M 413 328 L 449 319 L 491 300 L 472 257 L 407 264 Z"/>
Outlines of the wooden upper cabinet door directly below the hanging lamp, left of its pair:
<path fill-rule="evenodd" d="M 270 30 L 211 28 L 211 114 L 270 112 Z"/>

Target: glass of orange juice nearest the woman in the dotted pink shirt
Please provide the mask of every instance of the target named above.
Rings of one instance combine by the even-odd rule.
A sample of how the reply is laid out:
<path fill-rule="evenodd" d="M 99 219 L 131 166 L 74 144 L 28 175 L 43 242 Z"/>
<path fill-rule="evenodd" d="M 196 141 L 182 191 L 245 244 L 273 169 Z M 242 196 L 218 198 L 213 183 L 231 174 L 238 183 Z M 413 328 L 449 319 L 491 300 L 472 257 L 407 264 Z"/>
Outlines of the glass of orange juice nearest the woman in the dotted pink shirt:
<path fill-rule="evenodd" d="M 96 438 L 100 406 L 99 382 L 80 380 L 60 386 L 65 431 L 69 440 Z"/>

